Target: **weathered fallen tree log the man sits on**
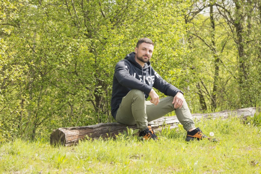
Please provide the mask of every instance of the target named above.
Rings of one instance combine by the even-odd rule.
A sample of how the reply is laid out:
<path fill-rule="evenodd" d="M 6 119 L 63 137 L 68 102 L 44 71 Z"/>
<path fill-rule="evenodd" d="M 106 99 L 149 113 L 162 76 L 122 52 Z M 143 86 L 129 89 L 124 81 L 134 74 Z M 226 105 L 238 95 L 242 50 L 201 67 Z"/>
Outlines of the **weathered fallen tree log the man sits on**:
<path fill-rule="evenodd" d="M 199 114 L 195 113 L 192 114 L 193 119 L 196 118 L 197 120 L 203 119 L 215 119 L 215 118 L 222 118 L 226 119 L 229 116 L 237 116 L 239 118 L 246 119 L 247 116 L 254 116 L 256 113 L 256 107 L 248 107 L 243 109 L 238 109 L 235 111 L 221 111 L 221 112 L 214 112 L 214 113 L 205 113 Z M 161 117 L 149 123 L 155 131 L 161 131 L 163 126 L 170 126 L 170 129 L 177 127 L 179 123 L 176 116 L 170 117 Z M 137 129 L 136 125 L 125 125 L 121 123 L 99 123 L 96 125 L 90 126 L 80 126 L 80 127 L 70 127 L 70 128 L 58 128 L 54 130 L 50 137 L 51 145 L 63 145 L 63 146 L 70 146 L 75 143 L 78 143 L 79 140 L 83 140 L 86 136 L 91 138 L 98 138 L 98 137 L 115 137 L 118 135 L 119 132 L 123 132 L 126 130 L 126 127 Z"/>

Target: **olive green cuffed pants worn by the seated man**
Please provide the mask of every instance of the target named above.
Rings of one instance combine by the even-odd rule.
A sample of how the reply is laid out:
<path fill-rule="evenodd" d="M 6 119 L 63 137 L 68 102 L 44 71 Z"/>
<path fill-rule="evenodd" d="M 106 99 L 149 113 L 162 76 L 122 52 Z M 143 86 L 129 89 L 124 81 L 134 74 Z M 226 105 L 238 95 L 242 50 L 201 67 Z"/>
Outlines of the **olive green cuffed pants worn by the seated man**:
<path fill-rule="evenodd" d="M 150 101 L 145 100 L 145 95 L 142 91 L 132 89 L 122 98 L 116 114 L 116 121 L 128 125 L 137 124 L 137 128 L 143 131 L 147 129 L 148 122 L 163 117 L 167 113 L 175 110 L 177 119 L 186 131 L 195 128 L 195 123 L 186 101 L 183 101 L 181 109 L 174 109 L 172 102 L 173 97 L 168 96 L 159 99 L 159 103 L 155 106 Z"/>

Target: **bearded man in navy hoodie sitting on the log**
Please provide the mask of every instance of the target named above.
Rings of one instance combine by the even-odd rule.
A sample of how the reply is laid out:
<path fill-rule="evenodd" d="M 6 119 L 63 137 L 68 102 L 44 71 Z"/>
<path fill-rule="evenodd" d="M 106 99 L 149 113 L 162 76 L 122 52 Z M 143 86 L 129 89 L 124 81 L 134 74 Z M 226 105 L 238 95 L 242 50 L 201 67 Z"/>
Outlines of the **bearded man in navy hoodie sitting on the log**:
<path fill-rule="evenodd" d="M 150 59 L 154 44 L 149 38 L 141 38 L 135 52 L 129 53 L 117 63 L 113 76 L 111 113 L 119 123 L 137 124 L 143 139 L 157 140 L 148 122 L 175 110 L 179 122 L 187 131 L 186 141 L 210 139 L 195 128 L 183 92 L 166 82 L 151 67 Z M 168 97 L 159 99 L 152 88 Z M 145 99 L 150 96 L 150 101 Z"/>

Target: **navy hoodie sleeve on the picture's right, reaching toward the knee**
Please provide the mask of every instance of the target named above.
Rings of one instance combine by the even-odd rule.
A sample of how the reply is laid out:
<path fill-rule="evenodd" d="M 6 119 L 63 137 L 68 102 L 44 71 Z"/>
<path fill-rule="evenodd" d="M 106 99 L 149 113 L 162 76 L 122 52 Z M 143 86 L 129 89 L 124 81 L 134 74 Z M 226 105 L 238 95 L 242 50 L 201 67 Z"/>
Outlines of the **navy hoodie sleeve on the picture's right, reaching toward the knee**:
<path fill-rule="evenodd" d="M 184 94 L 181 90 L 179 90 L 175 86 L 173 86 L 170 83 L 163 80 L 162 77 L 159 76 L 155 70 L 153 70 L 153 71 L 155 73 L 155 81 L 153 84 L 154 88 L 158 89 L 160 92 L 162 92 L 163 94 L 168 95 L 168 96 L 175 97 L 175 95 L 178 92 L 181 92 L 182 94 Z"/>

